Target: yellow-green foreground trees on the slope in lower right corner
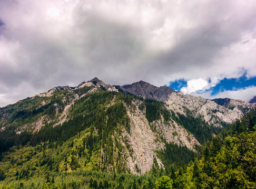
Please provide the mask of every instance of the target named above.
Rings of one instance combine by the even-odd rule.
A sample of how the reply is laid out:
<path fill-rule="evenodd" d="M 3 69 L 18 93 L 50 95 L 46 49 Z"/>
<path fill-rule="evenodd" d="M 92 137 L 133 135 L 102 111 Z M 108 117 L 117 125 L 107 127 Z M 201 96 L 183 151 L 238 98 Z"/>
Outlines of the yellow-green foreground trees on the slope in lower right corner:
<path fill-rule="evenodd" d="M 206 144 L 202 159 L 174 180 L 174 188 L 256 188 L 255 124 L 253 109 Z"/>

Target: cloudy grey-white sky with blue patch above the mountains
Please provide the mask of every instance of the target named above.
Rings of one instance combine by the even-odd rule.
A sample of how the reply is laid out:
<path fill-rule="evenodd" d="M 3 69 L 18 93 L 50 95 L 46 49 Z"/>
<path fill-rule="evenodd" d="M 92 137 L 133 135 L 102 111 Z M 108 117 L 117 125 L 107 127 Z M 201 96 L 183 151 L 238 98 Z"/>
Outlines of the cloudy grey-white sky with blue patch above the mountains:
<path fill-rule="evenodd" d="M 256 1 L 0 0 L 0 107 L 94 77 L 256 95 Z"/>

